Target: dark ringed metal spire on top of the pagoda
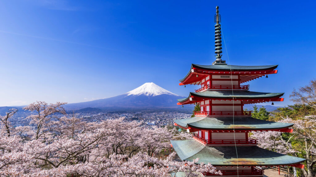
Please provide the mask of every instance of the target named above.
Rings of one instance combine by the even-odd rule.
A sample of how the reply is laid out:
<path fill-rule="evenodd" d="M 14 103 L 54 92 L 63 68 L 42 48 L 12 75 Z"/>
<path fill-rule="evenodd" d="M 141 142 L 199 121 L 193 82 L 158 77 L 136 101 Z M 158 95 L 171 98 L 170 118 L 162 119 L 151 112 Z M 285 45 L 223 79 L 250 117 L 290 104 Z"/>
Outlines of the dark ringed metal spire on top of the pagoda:
<path fill-rule="evenodd" d="M 216 6 L 216 14 L 214 15 L 215 25 L 215 57 L 216 60 L 212 65 L 227 65 L 225 60 L 222 60 L 222 31 L 221 31 L 221 15 L 218 12 L 218 6 Z"/>

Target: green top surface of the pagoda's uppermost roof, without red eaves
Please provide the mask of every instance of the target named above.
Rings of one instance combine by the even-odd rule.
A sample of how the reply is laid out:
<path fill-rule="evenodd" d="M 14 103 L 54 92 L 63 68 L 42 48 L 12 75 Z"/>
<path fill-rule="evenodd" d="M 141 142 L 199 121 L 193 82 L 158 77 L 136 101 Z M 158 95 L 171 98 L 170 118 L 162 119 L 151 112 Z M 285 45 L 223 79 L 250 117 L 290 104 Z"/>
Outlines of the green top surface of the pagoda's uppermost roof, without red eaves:
<path fill-rule="evenodd" d="M 257 71 L 257 70 L 273 70 L 278 65 L 266 65 L 266 66 L 238 66 L 238 65 L 196 65 L 192 64 L 191 69 L 194 68 L 200 68 L 205 70 L 219 70 L 219 71 Z M 185 76 L 188 77 L 191 73 L 191 69 L 189 73 Z M 184 81 L 185 78 L 180 79 L 180 82 Z"/>

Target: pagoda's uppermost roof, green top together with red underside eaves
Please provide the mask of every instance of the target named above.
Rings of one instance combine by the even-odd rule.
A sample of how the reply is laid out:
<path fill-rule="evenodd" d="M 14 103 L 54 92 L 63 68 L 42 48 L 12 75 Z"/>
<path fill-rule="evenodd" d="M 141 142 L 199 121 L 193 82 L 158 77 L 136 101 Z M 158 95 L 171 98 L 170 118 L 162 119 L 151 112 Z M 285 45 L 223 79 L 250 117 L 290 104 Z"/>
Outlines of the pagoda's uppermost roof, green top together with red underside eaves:
<path fill-rule="evenodd" d="M 202 79 L 214 75 L 240 75 L 240 83 L 262 77 L 267 74 L 277 73 L 278 65 L 266 66 L 238 66 L 238 65 L 196 65 L 191 64 L 188 74 L 179 81 L 179 85 L 184 84 L 201 84 Z M 197 77 L 197 74 L 199 77 Z"/>

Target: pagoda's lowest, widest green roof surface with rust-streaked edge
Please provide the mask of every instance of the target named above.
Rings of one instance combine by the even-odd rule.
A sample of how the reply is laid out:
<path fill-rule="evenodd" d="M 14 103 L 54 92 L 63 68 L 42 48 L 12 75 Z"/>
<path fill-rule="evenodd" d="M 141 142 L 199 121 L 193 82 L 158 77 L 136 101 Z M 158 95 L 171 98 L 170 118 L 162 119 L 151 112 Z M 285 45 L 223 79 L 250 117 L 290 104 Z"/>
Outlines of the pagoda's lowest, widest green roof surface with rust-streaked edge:
<path fill-rule="evenodd" d="M 181 160 L 193 161 L 199 158 L 197 163 L 211 163 L 213 166 L 275 166 L 305 161 L 303 158 L 280 154 L 258 146 L 204 146 L 193 139 L 173 140 L 171 144 Z"/>

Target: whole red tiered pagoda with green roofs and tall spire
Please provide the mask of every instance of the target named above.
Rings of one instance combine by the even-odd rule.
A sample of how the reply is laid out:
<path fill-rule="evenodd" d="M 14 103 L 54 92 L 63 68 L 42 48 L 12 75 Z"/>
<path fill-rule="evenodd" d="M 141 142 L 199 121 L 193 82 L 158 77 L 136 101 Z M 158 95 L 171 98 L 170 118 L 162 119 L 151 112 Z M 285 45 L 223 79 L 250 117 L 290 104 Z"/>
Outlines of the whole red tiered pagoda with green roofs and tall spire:
<path fill-rule="evenodd" d="M 257 146 L 249 138 L 250 131 L 279 131 L 292 133 L 294 124 L 252 118 L 252 111 L 244 111 L 245 104 L 283 101 L 284 93 L 249 91 L 245 83 L 259 77 L 276 74 L 277 65 L 237 66 L 222 60 L 221 16 L 216 7 L 215 56 L 212 65 L 192 64 L 179 85 L 201 85 L 178 105 L 199 104 L 195 117 L 176 119 L 174 125 L 192 133 L 191 140 L 171 141 L 181 160 L 211 163 L 223 176 L 263 176 L 262 167 L 292 166 L 304 168 L 305 159 L 269 151 Z M 181 174 L 179 174 L 181 175 Z M 177 176 L 179 176 L 177 174 Z M 183 176 L 182 174 L 181 176 Z M 199 174 L 200 176 L 216 176 Z"/>

